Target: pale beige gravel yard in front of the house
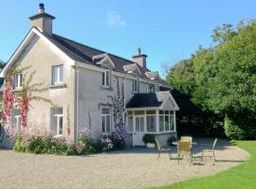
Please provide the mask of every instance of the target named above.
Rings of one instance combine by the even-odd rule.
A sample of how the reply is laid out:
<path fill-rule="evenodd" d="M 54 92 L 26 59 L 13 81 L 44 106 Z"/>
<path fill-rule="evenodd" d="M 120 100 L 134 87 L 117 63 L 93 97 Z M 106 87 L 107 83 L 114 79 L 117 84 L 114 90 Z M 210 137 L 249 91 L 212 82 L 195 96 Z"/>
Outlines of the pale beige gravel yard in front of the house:
<path fill-rule="evenodd" d="M 197 148 L 194 151 L 197 153 Z M 213 175 L 248 157 L 247 151 L 229 146 L 227 141 L 218 143 L 215 166 L 210 160 L 200 165 L 190 166 L 186 161 L 178 165 L 167 154 L 157 161 L 155 150 L 145 148 L 84 157 L 20 154 L 0 149 L 0 188 L 145 188 Z"/>

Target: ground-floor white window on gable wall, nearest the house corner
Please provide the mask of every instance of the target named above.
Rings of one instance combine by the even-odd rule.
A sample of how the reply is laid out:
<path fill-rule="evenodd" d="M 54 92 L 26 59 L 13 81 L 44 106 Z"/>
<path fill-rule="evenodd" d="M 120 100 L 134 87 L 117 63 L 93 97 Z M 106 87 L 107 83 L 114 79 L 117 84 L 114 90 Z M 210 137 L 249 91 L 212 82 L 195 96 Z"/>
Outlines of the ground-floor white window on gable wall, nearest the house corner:
<path fill-rule="evenodd" d="M 64 114 L 63 107 L 51 108 L 52 123 L 51 128 L 54 134 L 64 134 Z"/>

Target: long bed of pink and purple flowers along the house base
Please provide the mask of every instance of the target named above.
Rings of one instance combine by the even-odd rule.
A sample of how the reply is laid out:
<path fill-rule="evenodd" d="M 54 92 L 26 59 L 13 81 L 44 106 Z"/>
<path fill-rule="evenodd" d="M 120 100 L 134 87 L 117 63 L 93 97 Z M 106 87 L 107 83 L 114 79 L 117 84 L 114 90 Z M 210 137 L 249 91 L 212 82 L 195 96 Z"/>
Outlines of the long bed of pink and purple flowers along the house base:
<path fill-rule="evenodd" d="M 54 137 L 45 127 L 27 127 L 22 131 L 8 130 L 9 139 L 14 142 L 13 150 L 35 154 L 87 155 L 101 151 L 123 149 L 128 133 L 119 125 L 110 135 L 94 140 L 88 129 L 82 129 L 76 144 L 68 143 L 64 137 Z"/>

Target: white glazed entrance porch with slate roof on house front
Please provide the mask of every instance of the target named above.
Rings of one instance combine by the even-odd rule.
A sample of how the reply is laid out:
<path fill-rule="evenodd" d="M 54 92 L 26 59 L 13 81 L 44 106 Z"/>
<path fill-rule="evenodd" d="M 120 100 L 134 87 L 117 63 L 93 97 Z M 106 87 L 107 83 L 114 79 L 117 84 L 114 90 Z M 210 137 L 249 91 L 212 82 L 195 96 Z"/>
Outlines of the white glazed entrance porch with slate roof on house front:
<path fill-rule="evenodd" d="M 126 105 L 127 129 L 133 146 L 144 145 L 144 134 L 155 134 L 162 143 L 176 136 L 175 112 L 178 110 L 169 91 L 135 94 Z"/>

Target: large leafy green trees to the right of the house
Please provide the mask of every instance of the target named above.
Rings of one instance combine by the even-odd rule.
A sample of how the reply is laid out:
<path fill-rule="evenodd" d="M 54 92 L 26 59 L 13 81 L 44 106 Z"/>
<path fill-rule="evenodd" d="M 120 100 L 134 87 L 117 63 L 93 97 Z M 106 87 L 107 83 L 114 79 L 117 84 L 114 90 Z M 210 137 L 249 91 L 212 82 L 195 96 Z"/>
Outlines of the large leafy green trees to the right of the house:
<path fill-rule="evenodd" d="M 203 123 L 203 128 L 211 130 L 220 126 L 216 123 L 224 123 L 227 114 L 234 123 L 222 124 L 229 126 L 225 128 L 232 133 L 229 137 L 237 132 L 235 138 L 255 139 L 256 22 L 236 28 L 229 24 L 217 27 L 212 39 L 217 42 L 215 46 L 199 48 L 190 60 L 175 65 L 167 77 L 180 94 L 189 98 L 184 111 L 181 105 L 178 118 L 195 125 Z M 193 117 L 185 112 L 188 110 L 195 110 Z"/>

